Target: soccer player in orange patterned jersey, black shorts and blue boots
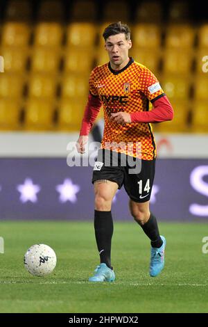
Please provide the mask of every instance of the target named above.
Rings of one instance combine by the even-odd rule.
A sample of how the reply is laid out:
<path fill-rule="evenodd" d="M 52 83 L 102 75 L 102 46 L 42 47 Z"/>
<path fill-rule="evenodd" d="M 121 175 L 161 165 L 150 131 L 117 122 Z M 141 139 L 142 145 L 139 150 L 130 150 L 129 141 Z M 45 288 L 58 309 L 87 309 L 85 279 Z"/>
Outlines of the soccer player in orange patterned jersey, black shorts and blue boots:
<path fill-rule="evenodd" d="M 110 24 L 103 38 L 110 62 L 95 67 L 89 77 L 89 97 L 76 143 L 78 152 L 84 153 L 89 131 L 103 106 L 105 128 L 92 177 L 94 230 L 100 264 L 89 281 L 115 279 L 110 258 L 111 207 L 122 185 L 130 198 L 130 213 L 150 239 L 150 276 L 154 277 L 164 268 L 166 239 L 159 235 L 157 219 L 149 207 L 156 158 L 150 123 L 172 120 L 173 109 L 155 75 L 129 58 L 128 51 L 132 47 L 129 27 L 121 22 Z M 149 102 L 153 104 L 150 111 Z M 130 173 L 133 166 L 130 159 L 137 166 L 135 173 Z"/>

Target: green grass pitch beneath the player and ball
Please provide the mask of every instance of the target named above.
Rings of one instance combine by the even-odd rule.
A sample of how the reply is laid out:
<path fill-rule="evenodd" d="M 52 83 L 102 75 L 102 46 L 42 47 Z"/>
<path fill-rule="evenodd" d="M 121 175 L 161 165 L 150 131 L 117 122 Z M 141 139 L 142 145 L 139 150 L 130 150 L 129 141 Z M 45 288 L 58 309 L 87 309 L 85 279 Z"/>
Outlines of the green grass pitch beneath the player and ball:
<path fill-rule="evenodd" d="M 114 223 L 113 283 L 90 283 L 98 264 L 92 222 L 1 221 L 0 312 L 208 312 L 205 223 L 159 223 L 166 236 L 166 266 L 148 276 L 150 245 L 135 222 Z M 33 277 L 23 257 L 33 244 L 51 246 L 53 273 Z"/>

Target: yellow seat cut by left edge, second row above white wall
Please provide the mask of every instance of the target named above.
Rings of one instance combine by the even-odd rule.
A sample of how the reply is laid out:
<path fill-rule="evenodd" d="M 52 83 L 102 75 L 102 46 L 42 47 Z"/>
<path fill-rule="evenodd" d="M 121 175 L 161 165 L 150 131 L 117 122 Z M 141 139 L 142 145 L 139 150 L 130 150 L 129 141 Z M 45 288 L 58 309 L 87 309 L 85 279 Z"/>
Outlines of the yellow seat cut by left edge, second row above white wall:
<path fill-rule="evenodd" d="M 0 75 L 0 97 L 20 98 L 24 90 L 24 77 L 21 74 L 4 72 Z"/>

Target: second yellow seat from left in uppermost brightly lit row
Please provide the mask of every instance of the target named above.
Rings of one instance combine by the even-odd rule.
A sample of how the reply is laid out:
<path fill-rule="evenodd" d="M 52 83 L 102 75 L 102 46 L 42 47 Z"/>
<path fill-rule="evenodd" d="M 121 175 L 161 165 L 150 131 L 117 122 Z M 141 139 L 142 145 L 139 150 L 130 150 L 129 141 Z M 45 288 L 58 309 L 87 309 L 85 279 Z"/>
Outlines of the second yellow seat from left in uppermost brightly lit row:
<path fill-rule="evenodd" d="M 35 45 L 59 47 L 62 42 L 62 25 L 55 22 L 42 22 L 35 28 Z"/>

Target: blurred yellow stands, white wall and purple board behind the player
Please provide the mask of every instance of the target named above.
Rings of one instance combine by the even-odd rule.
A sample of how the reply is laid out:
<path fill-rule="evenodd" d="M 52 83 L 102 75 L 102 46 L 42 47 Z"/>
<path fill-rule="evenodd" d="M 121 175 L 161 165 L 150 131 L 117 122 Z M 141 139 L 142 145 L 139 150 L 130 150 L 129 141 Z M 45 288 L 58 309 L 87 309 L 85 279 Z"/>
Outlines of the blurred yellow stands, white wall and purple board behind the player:
<path fill-rule="evenodd" d="M 1 0 L 0 218 L 92 218 L 92 168 L 67 166 L 67 144 L 78 138 L 89 73 L 108 61 L 103 30 L 116 21 L 130 26 L 130 55 L 154 72 L 175 110 L 173 121 L 153 126 L 158 150 L 153 210 L 164 220 L 208 217 L 205 6 Z M 101 111 L 92 134 L 96 140 L 102 118 Z M 115 202 L 116 216 L 128 218 L 123 191 Z"/>

